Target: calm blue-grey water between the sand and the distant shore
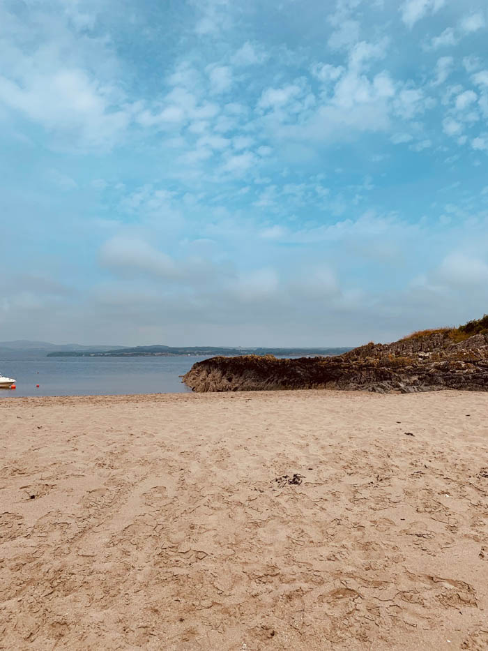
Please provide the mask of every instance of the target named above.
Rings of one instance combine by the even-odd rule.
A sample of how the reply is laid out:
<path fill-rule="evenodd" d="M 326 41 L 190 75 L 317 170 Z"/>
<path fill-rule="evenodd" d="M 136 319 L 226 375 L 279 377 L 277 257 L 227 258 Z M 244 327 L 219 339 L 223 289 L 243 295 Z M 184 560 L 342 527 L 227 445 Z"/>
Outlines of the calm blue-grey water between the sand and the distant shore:
<path fill-rule="evenodd" d="M 15 377 L 15 396 L 102 396 L 190 391 L 181 377 L 205 357 L 30 357 L 1 359 L 0 375 Z M 39 384 L 39 388 L 36 388 Z"/>

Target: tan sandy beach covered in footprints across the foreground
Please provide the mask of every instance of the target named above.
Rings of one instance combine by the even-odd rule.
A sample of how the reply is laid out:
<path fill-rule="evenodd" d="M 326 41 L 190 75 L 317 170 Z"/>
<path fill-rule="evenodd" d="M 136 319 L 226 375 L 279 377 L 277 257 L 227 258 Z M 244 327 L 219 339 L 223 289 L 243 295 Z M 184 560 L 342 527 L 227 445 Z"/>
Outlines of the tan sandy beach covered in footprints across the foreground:
<path fill-rule="evenodd" d="M 488 648 L 488 394 L 0 401 L 0 648 Z"/>

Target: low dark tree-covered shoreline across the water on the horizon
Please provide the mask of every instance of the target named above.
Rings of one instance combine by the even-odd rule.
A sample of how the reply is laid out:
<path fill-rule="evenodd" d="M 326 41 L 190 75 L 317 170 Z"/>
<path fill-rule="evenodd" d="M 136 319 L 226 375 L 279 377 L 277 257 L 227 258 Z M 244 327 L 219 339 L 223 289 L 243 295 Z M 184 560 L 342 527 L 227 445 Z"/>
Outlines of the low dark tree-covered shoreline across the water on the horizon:
<path fill-rule="evenodd" d="M 47 357 L 174 357 L 175 355 L 276 355 L 278 357 L 306 357 L 307 355 L 340 355 L 351 348 L 219 348 L 213 346 L 135 346 L 116 350 L 60 350 L 49 352 Z"/>

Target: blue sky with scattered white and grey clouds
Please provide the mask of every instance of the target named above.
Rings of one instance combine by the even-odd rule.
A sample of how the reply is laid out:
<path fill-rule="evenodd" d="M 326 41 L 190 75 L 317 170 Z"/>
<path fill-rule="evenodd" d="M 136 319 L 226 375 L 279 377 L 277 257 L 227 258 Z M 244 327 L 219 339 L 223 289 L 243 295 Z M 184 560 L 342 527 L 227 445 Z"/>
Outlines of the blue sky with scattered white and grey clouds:
<path fill-rule="evenodd" d="M 0 340 L 488 312 L 484 0 L 2 0 Z"/>

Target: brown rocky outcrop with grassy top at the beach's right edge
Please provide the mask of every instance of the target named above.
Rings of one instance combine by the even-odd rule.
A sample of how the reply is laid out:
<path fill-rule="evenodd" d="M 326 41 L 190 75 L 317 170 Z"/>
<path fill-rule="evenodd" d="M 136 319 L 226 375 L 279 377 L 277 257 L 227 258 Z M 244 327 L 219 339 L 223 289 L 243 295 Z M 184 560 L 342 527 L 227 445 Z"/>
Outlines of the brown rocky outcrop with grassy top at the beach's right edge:
<path fill-rule="evenodd" d="M 463 336 L 443 329 L 369 343 L 337 357 L 213 357 L 194 364 L 183 382 L 194 391 L 488 391 L 488 331 Z"/>

